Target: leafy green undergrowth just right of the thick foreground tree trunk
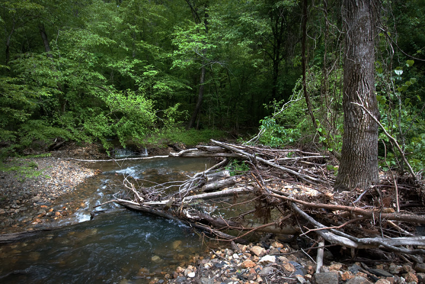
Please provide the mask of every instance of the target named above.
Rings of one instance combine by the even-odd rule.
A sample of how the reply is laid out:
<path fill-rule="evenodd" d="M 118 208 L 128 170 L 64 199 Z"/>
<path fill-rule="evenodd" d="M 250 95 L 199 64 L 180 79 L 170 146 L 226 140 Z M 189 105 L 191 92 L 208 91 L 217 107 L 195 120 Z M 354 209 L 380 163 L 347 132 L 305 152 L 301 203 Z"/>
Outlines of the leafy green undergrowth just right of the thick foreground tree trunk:
<path fill-rule="evenodd" d="M 407 160 L 416 171 L 423 169 L 425 159 L 425 117 L 420 115 L 418 105 L 421 104 L 423 86 L 417 86 L 414 74 L 413 60 L 407 60 L 404 66 L 396 67 L 394 70 L 386 71 L 386 66 L 376 63 L 377 95 L 381 113 L 381 123 L 385 130 L 397 138 Z M 408 80 L 403 79 L 407 75 Z M 416 74 L 418 75 L 418 74 Z M 421 76 L 420 76 L 421 77 Z M 386 145 L 386 153 L 381 153 L 380 165 L 384 170 L 389 167 L 401 169 L 403 167 L 400 153 L 393 147 L 388 137 L 383 133 L 379 139 Z"/>

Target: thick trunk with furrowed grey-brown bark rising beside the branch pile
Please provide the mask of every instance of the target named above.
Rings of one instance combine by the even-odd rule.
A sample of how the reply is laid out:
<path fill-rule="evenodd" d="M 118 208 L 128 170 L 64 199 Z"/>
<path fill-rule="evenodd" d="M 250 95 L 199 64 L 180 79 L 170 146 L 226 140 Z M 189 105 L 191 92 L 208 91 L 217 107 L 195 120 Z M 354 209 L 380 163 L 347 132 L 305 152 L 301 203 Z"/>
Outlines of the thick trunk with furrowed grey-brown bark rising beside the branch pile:
<path fill-rule="evenodd" d="M 346 22 L 343 110 L 344 133 L 335 190 L 366 188 L 378 181 L 378 125 L 358 106 L 376 118 L 379 110 L 374 94 L 374 30 L 378 17 L 374 0 L 345 0 Z"/>

